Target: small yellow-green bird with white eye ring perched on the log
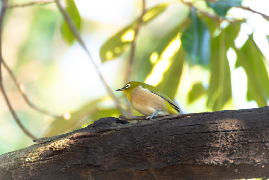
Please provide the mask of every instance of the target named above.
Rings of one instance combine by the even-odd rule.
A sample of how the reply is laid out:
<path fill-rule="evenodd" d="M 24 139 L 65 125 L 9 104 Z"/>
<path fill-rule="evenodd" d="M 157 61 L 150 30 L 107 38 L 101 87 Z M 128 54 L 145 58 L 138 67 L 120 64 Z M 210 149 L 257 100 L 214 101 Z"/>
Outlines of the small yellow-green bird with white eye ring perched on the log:
<path fill-rule="evenodd" d="M 156 87 L 132 81 L 116 91 L 125 92 L 132 107 L 147 118 L 178 114 L 179 107 Z"/>

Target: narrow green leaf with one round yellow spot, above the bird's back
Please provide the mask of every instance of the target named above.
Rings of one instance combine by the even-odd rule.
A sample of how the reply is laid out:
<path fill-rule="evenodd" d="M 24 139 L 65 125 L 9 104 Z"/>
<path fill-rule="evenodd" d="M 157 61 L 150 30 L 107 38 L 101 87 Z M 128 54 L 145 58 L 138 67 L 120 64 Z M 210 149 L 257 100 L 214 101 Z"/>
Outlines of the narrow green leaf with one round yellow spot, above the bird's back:
<path fill-rule="evenodd" d="M 185 23 L 180 23 L 175 26 L 170 32 L 168 32 L 161 40 L 157 43 L 157 46 L 154 50 L 150 51 L 146 56 L 144 56 L 142 60 L 142 66 L 140 68 L 140 73 L 138 77 L 138 81 L 144 82 L 148 74 L 152 71 L 154 64 L 160 58 L 162 52 L 164 52 L 165 48 L 169 45 L 169 43 L 177 36 Z"/>

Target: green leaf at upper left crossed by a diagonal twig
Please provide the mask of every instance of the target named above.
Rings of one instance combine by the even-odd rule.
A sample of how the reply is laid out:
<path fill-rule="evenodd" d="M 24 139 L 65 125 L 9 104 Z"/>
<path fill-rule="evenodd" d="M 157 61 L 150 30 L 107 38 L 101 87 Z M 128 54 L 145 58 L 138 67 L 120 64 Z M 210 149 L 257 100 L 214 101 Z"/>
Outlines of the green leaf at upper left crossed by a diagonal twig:
<path fill-rule="evenodd" d="M 80 19 L 79 11 L 77 10 L 77 6 L 73 0 L 66 0 L 65 11 L 69 14 L 77 30 L 80 30 L 81 19 Z M 62 23 L 61 23 L 61 34 L 62 34 L 62 38 L 65 39 L 66 42 L 68 42 L 70 45 L 76 39 L 72 31 L 69 29 L 67 22 L 64 19 L 62 20 Z"/>

